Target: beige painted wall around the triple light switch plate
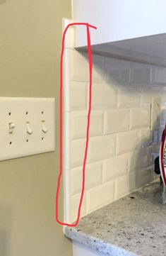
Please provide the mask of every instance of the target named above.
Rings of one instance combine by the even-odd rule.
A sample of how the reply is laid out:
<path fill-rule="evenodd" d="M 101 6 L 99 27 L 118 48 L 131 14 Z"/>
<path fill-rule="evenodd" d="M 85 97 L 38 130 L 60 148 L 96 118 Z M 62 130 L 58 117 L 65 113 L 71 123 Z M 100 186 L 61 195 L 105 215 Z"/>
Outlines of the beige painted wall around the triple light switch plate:
<path fill-rule="evenodd" d="M 71 243 L 54 220 L 54 196 L 61 18 L 71 17 L 71 1 L 3 2 L 0 96 L 55 97 L 57 150 L 0 162 L 0 256 L 68 256 Z M 62 203 L 60 211 L 62 218 Z"/>

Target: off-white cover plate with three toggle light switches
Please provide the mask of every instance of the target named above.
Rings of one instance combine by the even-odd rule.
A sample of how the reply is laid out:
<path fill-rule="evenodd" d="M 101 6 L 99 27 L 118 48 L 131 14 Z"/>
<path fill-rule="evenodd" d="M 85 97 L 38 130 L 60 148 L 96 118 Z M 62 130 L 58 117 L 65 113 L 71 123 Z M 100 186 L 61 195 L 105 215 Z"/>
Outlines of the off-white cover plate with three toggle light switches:
<path fill-rule="evenodd" d="M 54 151 L 54 99 L 0 97 L 0 161 Z"/>

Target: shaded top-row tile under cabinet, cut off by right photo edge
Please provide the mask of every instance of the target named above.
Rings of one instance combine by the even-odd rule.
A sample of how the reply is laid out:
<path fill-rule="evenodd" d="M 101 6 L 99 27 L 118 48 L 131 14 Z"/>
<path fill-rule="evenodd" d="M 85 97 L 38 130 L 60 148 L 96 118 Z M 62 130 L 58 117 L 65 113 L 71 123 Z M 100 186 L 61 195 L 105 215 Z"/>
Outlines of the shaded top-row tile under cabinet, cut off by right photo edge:
<path fill-rule="evenodd" d="M 153 66 L 152 84 L 166 84 L 166 67 Z"/>

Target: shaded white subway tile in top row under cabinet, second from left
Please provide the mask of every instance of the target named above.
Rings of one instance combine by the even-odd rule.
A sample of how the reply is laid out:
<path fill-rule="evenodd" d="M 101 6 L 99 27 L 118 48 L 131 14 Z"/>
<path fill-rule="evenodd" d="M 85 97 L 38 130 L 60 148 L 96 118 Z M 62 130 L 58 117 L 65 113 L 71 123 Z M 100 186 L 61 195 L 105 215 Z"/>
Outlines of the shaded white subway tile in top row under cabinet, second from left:
<path fill-rule="evenodd" d="M 129 84 L 131 62 L 105 58 L 105 81 L 107 84 Z"/>

